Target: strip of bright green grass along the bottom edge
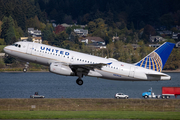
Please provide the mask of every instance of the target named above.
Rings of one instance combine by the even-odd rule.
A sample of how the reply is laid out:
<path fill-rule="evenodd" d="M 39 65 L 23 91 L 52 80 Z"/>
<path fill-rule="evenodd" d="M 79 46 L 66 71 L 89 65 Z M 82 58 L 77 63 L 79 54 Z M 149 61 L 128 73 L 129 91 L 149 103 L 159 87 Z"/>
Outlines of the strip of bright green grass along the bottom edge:
<path fill-rule="evenodd" d="M 180 119 L 180 112 L 153 111 L 1 111 L 1 119 Z"/>

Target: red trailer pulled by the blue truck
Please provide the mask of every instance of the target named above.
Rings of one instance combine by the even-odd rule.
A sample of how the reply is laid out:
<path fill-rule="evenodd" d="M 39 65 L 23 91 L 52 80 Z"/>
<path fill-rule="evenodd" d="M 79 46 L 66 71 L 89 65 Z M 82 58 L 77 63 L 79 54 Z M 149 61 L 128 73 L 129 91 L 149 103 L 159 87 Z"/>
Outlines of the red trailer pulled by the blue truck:
<path fill-rule="evenodd" d="M 170 98 L 170 96 L 180 95 L 180 87 L 162 87 L 162 98 Z"/>

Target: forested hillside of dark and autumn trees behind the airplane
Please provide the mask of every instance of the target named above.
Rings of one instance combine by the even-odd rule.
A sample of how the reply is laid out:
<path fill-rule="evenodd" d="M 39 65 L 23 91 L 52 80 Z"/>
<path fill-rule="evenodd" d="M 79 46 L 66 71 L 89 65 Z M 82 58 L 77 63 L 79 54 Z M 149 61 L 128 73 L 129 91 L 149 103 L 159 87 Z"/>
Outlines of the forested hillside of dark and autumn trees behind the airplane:
<path fill-rule="evenodd" d="M 32 27 L 42 31 L 45 44 L 135 63 L 153 50 L 145 44 L 150 35 L 158 35 L 155 27 L 179 32 L 173 27 L 180 25 L 179 5 L 179 0 L 0 0 L 0 45 L 28 36 L 27 28 Z M 107 49 L 93 50 L 80 43 L 73 32 L 80 26 L 55 33 L 50 20 L 56 24 L 87 24 L 89 36 L 104 39 Z M 119 41 L 112 42 L 115 35 Z M 170 42 L 178 41 L 164 37 Z M 131 44 L 141 47 L 134 49 Z M 165 69 L 179 68 L 177 53 L 179 49 L 174 49 Z M 14 59 L 11 61 L 15 63 Z"/>

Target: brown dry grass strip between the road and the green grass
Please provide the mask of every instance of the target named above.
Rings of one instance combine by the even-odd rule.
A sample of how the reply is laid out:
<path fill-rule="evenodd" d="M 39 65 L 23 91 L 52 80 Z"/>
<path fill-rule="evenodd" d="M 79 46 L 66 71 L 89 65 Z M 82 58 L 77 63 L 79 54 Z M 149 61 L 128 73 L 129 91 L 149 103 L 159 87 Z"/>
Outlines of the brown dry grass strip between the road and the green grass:
<path fill-rule="evenodd" d="M 4 101 L 4 102 L 3 102 Z M 0 111 L 177 111 L 180 100 L 0 99 Z"/>

